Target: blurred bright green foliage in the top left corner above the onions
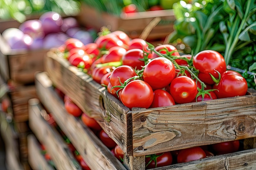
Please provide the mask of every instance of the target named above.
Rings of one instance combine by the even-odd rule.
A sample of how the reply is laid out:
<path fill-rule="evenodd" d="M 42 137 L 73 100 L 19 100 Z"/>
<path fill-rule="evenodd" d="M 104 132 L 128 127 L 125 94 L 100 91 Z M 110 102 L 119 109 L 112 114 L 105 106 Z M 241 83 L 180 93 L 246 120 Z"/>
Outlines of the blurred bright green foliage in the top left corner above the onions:
<path fill-rule="evenodd" d="M 56 11 L 72 16 L 79 13 L 80 0 L 0 0 L 0 19 L 14 19 L 22 23 L 29 15 Z"/>

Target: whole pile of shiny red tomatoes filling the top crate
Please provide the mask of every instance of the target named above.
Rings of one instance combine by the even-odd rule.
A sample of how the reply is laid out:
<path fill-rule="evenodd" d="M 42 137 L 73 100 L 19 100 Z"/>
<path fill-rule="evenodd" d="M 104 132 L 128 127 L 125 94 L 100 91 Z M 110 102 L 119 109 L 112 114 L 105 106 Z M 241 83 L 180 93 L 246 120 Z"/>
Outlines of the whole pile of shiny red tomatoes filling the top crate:
<path fill-rule="evenodd" d="M 58 52 L 119 99 L 126 107 L 156 108 L 242 96 L 247 82 L 227 70 L 213 50 L 181 55 L 175 46 L 153 46 L 122 31 L 103 31 L 93 43 L 68 39 Z"/>

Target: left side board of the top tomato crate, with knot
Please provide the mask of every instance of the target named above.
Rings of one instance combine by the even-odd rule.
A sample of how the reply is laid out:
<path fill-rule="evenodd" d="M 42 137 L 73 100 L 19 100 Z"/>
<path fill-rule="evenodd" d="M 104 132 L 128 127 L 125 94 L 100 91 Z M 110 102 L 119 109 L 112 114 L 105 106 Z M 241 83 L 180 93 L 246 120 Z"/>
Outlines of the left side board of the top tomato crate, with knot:
<path fill-rule="evenodd" d="M 127 134 L 132 132 L 131 115 L 127 114 L 129 108 L 63 58 L 53 52 L 48 52 L 47 56 L 45 70 L 54 86 L 68 95 L 84 113 L 96 119 L 124 152 L 132 151 L 131 134 L 129 138 Z"/>

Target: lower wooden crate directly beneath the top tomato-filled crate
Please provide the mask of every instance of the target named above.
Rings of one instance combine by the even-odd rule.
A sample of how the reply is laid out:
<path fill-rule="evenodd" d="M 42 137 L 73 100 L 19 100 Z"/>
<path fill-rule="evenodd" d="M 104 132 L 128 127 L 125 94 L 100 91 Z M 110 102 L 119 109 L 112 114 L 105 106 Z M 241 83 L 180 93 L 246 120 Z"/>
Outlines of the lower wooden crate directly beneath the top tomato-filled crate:
<path fill-rule="evenodd" d="M 72 144 L 74 144 L 83 158 L 89 161 L 88 163 L 90 163 L 89 166 L 92 167 L 92 170 L 123 169 L 121 166 L 119 168 L 116 167 L 118 164 L 116 161 L 114 163 L 115 159 L 111 158 L 110 151 L 99 142 L 99 139 L 95 137 L 94 133 L 84 126 L 81 120 L 66 112 L 63 100 L 54 91 L 52 81 L 49 79 L 47 73 L 38 73 L 36 75 L 36 88 L 40 102 L 46 108 L 49 108 L 57 124 L 62 128 L 67 137 L 69 137 Z M 116 129 L 109 128 L 109 131 L 115 133 Z M 162 168 L 153 168 L 152 170 L 226 170 L 227 167 L 236 170 L 254 169 L 256 167 L 256 138 L 245 139 L 244 144 L 244 147 L 248 150 L 207 157 L 198 161 L 179 163 Z M 253 147 L 254 149 L 252 149 Z M 168 147 L 164 151 L 168 151 Z M 93 160 L 96 160 L 96 162 Z M 108 166 L 106 167 L 106 165 Z M 128 170 L 145 170 L 145 156 L 133 157 L 125 153 L 124 166 Z"/>

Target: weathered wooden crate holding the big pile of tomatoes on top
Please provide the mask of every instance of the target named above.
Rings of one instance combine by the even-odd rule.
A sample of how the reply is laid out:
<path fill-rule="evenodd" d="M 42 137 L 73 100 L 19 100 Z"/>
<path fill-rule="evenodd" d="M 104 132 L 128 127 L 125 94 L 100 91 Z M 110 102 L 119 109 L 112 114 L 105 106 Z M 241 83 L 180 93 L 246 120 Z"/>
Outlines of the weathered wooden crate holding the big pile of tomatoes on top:
<path fill-rule="evenodd" d="M 53 84 L 94 117 L 130 156 L 256 137 L 252 89 L 240 97 L 130 111 L 67 60 L 49 52 L 45 64 Z"/>

